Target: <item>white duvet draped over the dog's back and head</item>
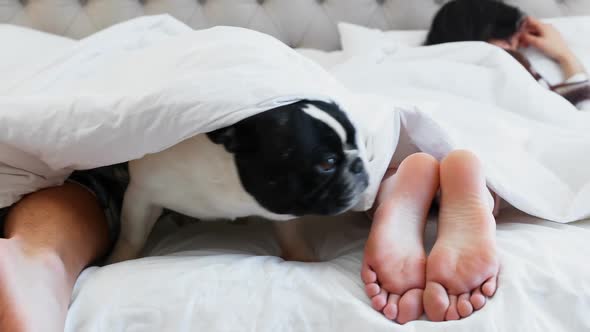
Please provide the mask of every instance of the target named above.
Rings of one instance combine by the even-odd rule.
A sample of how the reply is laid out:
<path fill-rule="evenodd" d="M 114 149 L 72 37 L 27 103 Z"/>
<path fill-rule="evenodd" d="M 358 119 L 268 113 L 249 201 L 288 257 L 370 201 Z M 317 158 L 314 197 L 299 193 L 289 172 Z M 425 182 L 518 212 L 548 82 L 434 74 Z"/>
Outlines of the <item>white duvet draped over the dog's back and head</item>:
<path fill-rule="evenodd" d="M 0 152 L 14 168 L 0 173 L 0 207 L 61 183 L 73 169 L 136 159 L 304 98 L 334 100 L 353 118 L 355 105 L 366 103 L 273 37 L 232 27 L 193 31 L 169 16 L 113 26 L 35 60 L 23 61 L 26 70 L 6 68 L 0 81 Z M 398 118 L 374 100 L 374 112 L 387 109 L 386 121 L 357 121 L 387 133 L 377 147 L 385 151 L 369 163 L 371 178 L 380 179 Z M 21 170 L 28 174 L 15 174 Z M 359 209 L 377 191 L 378 181 L 370 182 Z"/>

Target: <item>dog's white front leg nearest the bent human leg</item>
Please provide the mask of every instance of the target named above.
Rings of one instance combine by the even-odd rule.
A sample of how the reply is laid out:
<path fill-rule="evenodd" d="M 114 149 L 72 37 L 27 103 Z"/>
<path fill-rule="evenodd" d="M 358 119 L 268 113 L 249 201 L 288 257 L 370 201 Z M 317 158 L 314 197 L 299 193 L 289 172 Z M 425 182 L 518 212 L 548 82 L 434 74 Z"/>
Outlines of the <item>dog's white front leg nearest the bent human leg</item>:
<path fill-rule="evenodd" d="M 140 188 L 129 184 L 121 212 L 121 233 L 108 262 L 137 258 L 162 210 Z"/>

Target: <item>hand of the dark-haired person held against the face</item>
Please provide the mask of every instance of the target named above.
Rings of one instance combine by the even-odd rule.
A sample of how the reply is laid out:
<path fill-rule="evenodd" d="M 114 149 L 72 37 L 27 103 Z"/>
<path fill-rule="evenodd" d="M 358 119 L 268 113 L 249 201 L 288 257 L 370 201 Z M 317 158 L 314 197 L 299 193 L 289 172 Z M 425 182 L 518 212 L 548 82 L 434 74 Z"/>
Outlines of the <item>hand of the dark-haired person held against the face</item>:
<path fill-rule="evenodd" d="M 533 46 L 559 63 L 574 57 L 559 31 L 551 24 L 528 17 L 522 29 L 521 46 Z"/>

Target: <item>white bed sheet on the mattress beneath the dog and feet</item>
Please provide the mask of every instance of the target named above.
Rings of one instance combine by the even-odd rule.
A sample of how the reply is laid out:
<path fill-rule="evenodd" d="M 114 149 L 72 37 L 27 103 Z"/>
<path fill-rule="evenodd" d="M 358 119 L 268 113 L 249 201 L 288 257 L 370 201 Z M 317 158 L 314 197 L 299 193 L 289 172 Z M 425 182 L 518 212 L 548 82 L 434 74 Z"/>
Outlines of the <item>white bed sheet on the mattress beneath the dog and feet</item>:
<path fill-rule="evenodd" d="M 341 52 L 302 54 L 330 69 Z M 330 62 L 333 61 L 333 62 Z M 426 242 L 434 240 L 429 220 Z M 499 290 L 475 315 L 404 326 L 370 308 L 359 277 L 362 215 L 306 220 L 322 263 L 284 262 L 269 225 L 162 220 L 147 257 L 87 269 L 66 331 L 587 331 L 590 220 L 557 224 L 510 208 L 498 220 Z"/>

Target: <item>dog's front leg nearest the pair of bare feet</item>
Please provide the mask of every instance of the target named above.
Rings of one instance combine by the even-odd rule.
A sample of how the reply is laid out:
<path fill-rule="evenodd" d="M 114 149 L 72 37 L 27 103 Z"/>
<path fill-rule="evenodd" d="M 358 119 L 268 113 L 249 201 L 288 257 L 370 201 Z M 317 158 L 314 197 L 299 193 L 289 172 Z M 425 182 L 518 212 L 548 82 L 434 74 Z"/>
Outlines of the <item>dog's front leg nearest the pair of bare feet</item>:
<path fill-rule="evenodd" d="M 281 247 L 281 257 L 287 261 L 317 262 L 318 259 L 305 241 L 299 221 L 275 221 L 275 235 Z"/>

